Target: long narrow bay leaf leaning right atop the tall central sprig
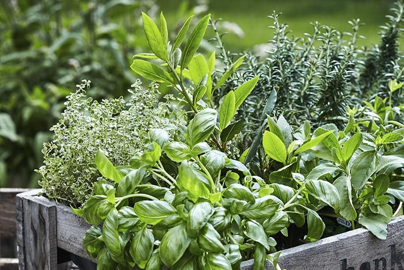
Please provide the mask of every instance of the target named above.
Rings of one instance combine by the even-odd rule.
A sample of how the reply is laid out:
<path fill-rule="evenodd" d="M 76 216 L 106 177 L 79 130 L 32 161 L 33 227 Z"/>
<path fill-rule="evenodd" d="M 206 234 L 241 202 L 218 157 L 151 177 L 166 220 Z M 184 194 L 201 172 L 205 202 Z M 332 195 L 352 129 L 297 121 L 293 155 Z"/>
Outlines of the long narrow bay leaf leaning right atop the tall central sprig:
<path fill-rule="evenodd" d="M 180 66 L 181 69 L 184 69 L 188 66 L 191 61 L 193 55 L 196 53 L 196 50 L 199 48 L 200 41 L 205 35 L 206 28 L 208 26 L 209 18 L 211 15 L 206 15 L 203 17 L 193 28 L 191 34 L 188 37 L 188 40 L 185 43 L 184 50 L 181 56 Z"/>

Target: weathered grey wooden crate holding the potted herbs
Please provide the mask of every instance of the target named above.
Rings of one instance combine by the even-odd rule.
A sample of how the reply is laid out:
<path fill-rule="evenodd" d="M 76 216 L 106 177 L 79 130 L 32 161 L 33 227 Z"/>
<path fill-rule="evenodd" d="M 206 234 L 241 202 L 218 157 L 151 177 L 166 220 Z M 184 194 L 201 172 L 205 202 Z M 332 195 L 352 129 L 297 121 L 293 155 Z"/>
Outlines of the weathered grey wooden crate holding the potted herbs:
<path fill-rule="evenodd" d="M 20 269 L 55 269 L 58 248 L 90 261 L 81 248 L 89 225 L 68 206 L 36 196 L 18 195 Z M 242 262 L 252 269 L 252 260 Z M 404 216 L 388 224 L 387 240 L 357 229 L 320 241 L 283 250 L 279 264 L 288 270 L 404 270 Z M 267 269 L 273 269 L 267 263 Z"/>

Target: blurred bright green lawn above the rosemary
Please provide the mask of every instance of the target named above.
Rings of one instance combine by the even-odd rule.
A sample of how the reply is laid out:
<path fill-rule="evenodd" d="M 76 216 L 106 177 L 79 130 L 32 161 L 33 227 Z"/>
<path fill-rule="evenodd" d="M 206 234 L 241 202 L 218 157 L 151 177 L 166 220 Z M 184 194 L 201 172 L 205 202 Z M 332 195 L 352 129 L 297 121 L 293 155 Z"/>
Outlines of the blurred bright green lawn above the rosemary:
<path fill-rule="evenodd" d="M 159 5 L 166 17 L 176 12 L 180 0 L 159 0 Z M 371 46 L 378 43 L 379 26 L 385 24 L 392 0 L 211 0 L 208 12 L 214 19 L 237 23 L 244 31 L 244 38 L 235 34 L 224 37 L 227 49 L 242 51 L 255 44 L 265 43 L 272 37 L 272 24 L 267 16 L 275 10 L 282 13 L 280 20 L 287 23 L 294 36 L 311 33 L 310 22 L 319 21 L 321 24 L 333 26 L 339 31 L 350 31 L 349 20 L 360 18 L 365 23 L 360 34 L 361 46 Z M 207 13 L 208 13 L 207 12 Z M 400 39 L 403 43 L 403 39 Z M 404 44 L 400 48 L 404 49 Z"/>

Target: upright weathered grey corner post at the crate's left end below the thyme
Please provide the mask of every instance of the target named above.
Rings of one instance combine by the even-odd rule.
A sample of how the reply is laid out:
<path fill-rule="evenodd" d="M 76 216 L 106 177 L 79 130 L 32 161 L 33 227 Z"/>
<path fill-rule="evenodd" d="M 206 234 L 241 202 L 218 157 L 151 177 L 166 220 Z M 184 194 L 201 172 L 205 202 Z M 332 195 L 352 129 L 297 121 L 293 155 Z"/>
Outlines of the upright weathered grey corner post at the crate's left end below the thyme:
<path fill-rule="evenodd" d="M 22 196 L 25 269 L 57 269 L 56 206 L 31 194 Z"/>

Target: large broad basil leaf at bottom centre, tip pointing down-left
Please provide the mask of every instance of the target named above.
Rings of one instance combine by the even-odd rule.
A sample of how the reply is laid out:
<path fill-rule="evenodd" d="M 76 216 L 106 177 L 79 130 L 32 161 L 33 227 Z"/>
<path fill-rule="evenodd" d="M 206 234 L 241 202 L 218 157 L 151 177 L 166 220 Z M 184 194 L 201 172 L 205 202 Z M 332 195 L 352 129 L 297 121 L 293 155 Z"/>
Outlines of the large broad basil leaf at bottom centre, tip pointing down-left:
<path fill-rule="evenodd" d="M 168 267 L 173 267 L 184 254 L 189 244 L 192 242 L 186 233 L 185 223 L 181 223 L 168 230 L 161 240 L 159 247 L 160 259 Z"/>

